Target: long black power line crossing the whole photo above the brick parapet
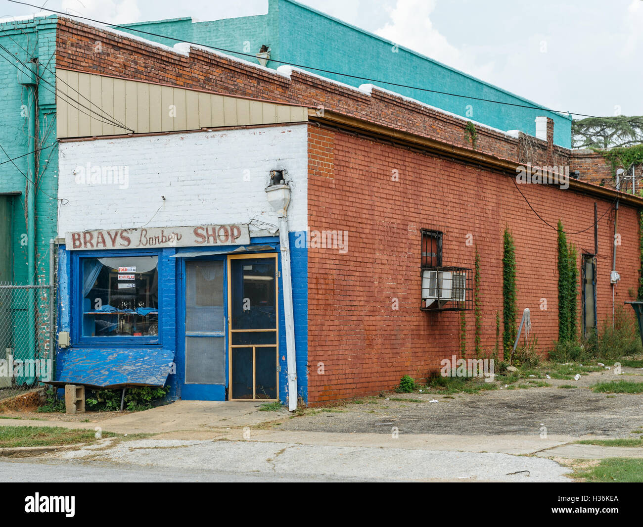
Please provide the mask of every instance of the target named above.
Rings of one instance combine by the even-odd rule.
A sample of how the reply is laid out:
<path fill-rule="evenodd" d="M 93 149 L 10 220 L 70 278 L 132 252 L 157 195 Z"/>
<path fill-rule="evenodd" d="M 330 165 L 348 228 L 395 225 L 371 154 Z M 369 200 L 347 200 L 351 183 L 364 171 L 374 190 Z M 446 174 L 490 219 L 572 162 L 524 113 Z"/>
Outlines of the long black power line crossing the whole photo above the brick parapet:
<path fill-rule="evenodd" d="M 19 2 L 17 0 L 8 0 L 9 2 L 12 2 L 14 4 L 21 4 L 25 6 L 30 6 L 34 8 L 39 8 L 37 5 L 29 4 L 26 2 Z M 211 50 L 216 50 L 216 51 L 222 51 L 223 53 L 231 54 L 231 55 L 240 55 L 242 57 L 249 57 L 251 59 L 256 59 L 257 57 L 255 55 L 252 55 L 251 53 L 243 53 L 242 51 L 233 51 L 233 50 L 226 50 L 224 48 L 217 48 L 215 46 L 209 46 L 208 44 L 200 44 L 199 42 L 192 42 L 192 41 L 185 41 L 182 39 L 177 39 L 176 37 L 168 37 L 167 35 L 160 35 L 159 33 L 152 33 L 148 31 L 143 31 L 140 29 L 136 28 L 131 28 L 128 26 L 120 26 L 118 24 L 109 24 L 104 21 L 96 20 L 93 18 L 89 17 L 82 17 L 80 15 L 69 15 L 65 12 L 62 11 L 56 11 L 53 9 L 46 9 L 46 11 L 49 11 L 51 13 L 63 15 L 65 17 L 69 18 L 78 18 L 78 19 L 83 19 L 83 20 L 88 20 L 90 22 L 94 22 L 96 24 L 104 24 L 108 28 L 120 28 L 123 30 L 127 31 L 135 31 L 138 33 L 143 33 L 145 35 L 151 35 L 153 37 L 159 37 L 162 39 L 168 39 L 170 41 L 176 41 L 176 42 L 183 42 L 185 44 L 193 44 L 194 46 L 202 46 L 204 48 L 210 48 Z M 526 108 L 526 109 L 534 109 L 534 110 L 544 110 L 544 111 L 550 111 L 553 113 L 559 113 L 559 114 L 567 114 L 567 115 L 577 115 L 581 117 L 595 117 L 595 118 L 602 118 L 602 119 L 607 119 L 607 120 L 618 120 L 620 122 L 629 122 L 629 123 L 635 123 L 636 121 L 626 121 L 623 119 L 619 119 L 618 117 L 604 117 L 604 116 L 599 116 L 599 115 L 590 115 L 587 113 L 575 113 L 575 112 L 570 112 L 570 111 L 562 111 L 562 110 L 552 110 L 545 108 L 543 106 L 530 106 L 527 104 L 516 104 L 513 102 L 505 102 L 505 101 L 500 101 L 500 100 L 493 100 L 493 99 L 486 99 L 482 97 L 475 97 L 473 95 L 463 95 L 460 93 L 451 93 L 449 91 L 439 91 L 435 89 L 430 89 L 430 88 L 419 88 L 419 86 L 410 86 L 408 84 L 399 84 L 397 82 L 390 82 L 388 80 L 381 80 L 381 79 L 369 79 L 368 77 L 360 77 L 359 75 L 351 75 L 350 73 L 341 73 L 340 71 L 332 71 L 331 69 L 321 69 L 321 68 L 314 68 L 313 66 L 305 66 L 302 64 L 294 64 L 293 62 L 287 62 L 285 60 L 277 60 L 277 59 L 270 59 L 272 62 L 278 62 L 279 64 L 284 64 L 285 66 L 293 66 L 294 68 L 302 68 L 302 69 L 312 69 L 314 71 L 320 71 L 321 73 L 329 73 L 331 75 L 340 75 L 341 77 L 348 77 L 349 79 L 359 79 L 359 80 L 367 80 L 368 82 L 374 82 L 377 84 L 388 84 L 389 86 L 395 86 L 396 88 L 409 88 L 409 89 L 417 89 L 418 91 L 427 91 L 430 93 L 437 93 L 438 95 L 449 95 L 450 97 L 460 97 L 460 98 L 466 98 L 466 99 L 471 99 L 471 100 L 479 100 L 481 102 L 491 102 L 493 104 L 502 104 L 505 106 L 514 106 L 514 107 L 520 107 L 520 108 Z M 516 96 L 517 97 L 517 96 Z"/>

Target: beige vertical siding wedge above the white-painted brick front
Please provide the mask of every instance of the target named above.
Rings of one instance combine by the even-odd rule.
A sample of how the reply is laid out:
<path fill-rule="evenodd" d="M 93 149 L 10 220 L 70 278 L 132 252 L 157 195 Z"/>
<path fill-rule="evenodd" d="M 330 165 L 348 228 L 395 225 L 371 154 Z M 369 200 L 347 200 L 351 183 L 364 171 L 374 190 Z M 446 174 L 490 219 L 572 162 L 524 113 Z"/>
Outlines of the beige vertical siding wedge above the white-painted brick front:
<path fill-rule="evenodd" d="M 157 133 L 277 124 L 308 118 L 302 107 L 64 69 L 57 71 L 57 91 L 59 138 L 131 133 L 128 129 Z"/>

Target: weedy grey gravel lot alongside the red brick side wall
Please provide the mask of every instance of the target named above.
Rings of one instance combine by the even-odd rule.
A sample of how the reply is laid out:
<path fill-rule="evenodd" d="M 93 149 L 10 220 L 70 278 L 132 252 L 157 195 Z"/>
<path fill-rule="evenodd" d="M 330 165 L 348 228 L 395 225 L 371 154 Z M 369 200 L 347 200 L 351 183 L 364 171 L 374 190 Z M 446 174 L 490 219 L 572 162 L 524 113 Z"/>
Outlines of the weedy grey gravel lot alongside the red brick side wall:
<path fill-rule="evenodd" d="M 502 389 L 450 397 L 390 393 L 385 398 L 366 398 L 362 404 L 350 403 L 314 415 L 293 417 L 275 427 L 347 433 L 390 434 L 392 427 L 397 427 L 400 434 L 538 435 L 545 426 L 548 434 L 638 438 L 640 430 L 638 434 L 631 432 L 643 427 L 643 394 L 608 396 L 587 388 L 596 382 L 614 379 L 610 374 L 592 373 L 579 382 L 547 380 L 551 387 Z M 619 380 L 643 381 L 643 376 L 639 371 L 620 376 Z M 579 387 L 558 387 L 564 384 Z M 390 400 L 392 398 L 402 400 Z"/>

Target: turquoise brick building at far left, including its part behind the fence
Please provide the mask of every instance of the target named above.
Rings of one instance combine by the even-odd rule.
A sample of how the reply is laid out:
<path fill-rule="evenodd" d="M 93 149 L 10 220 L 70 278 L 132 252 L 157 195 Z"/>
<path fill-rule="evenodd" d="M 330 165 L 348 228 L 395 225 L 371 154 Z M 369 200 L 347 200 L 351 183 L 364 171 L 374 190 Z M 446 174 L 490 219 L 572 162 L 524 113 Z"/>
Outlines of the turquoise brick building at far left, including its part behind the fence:
<path fill-rule="evenodd" d="M 0 282 L 50 281 L 57 230 L 55 46 L 57 17 L 0 23 Z M 48 356 L 42 290 L 0 291 L 0 359 Z M 7 351 L 9 350 L 9 351 Z M 15 379 L 31 384 L 26 375 Z M 11 380 L 0 379 L 0 388 Z"/>

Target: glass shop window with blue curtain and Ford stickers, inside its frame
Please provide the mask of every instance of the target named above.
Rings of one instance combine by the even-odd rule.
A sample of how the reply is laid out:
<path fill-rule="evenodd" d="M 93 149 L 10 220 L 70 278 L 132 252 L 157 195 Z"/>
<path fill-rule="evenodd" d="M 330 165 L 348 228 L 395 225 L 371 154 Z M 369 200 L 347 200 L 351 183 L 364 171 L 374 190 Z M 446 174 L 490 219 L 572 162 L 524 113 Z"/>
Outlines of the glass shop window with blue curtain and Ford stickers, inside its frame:
<path fill-rule="evenodd" d="M 158 337 L 158 256 L 80 259 L 82 337 Z"/>

